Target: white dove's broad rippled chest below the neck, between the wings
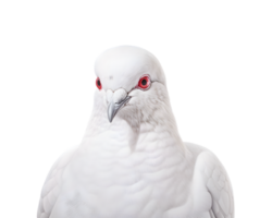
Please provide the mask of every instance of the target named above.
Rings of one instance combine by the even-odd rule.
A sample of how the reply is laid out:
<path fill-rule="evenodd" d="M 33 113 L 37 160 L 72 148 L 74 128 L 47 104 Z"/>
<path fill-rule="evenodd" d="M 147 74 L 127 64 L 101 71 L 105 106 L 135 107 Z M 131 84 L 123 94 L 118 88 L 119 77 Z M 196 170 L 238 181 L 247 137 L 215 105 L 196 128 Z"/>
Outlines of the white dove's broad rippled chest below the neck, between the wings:
<path fill-rule="evenodd" d="M 81 217 L 160 218 L 188 204 L 191 170 L 176 150 L 120 153 L 122 157 L 103 154 L 71 165 L 65 173 L 73 174 L 73 181 L 63 185 L 67 214 L 81 208 Z"/>

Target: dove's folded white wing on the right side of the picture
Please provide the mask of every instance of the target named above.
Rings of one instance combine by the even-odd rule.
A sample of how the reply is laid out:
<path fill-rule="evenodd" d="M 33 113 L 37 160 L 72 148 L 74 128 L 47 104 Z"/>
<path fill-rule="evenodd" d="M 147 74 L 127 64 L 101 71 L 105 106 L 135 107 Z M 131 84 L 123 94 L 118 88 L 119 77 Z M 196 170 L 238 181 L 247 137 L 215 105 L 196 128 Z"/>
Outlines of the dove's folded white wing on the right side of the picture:
<path fill-rule="evenodd" d="M 210 150 L 201 153 L 197 160 L 198 170 L 212 198 L 210 218 L 234 218 L 234 192 L 225 167 Z"/>

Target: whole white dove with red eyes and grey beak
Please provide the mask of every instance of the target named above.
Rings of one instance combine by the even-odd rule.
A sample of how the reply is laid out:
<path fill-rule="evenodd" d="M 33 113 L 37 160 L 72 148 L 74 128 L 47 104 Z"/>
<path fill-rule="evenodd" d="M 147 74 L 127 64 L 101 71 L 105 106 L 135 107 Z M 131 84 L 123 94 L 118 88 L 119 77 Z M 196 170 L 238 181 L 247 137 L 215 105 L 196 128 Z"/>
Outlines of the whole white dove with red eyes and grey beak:
<path fill-rule="evenodd" d="M 234 218 L 223 164 L 178 135 L 159 60 L 114 46 L 94 75 L 83 137 L 51 166 L 36 218 Z"/>

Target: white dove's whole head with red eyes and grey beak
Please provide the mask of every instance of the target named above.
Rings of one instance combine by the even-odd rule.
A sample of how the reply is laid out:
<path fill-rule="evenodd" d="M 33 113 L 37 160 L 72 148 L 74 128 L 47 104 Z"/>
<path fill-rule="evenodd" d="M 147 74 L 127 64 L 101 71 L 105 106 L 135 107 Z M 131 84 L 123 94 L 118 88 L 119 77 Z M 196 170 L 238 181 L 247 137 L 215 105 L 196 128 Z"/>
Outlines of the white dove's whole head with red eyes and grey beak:
<path fill-rule="evenodd" d="M 106 49 L 95 61 L 94 76 L 96 88 L 106 92 L 110 122 L 116 114 L 131 123 L 149 122 L 170 104 L 160 61 L 138 46 Z"/>

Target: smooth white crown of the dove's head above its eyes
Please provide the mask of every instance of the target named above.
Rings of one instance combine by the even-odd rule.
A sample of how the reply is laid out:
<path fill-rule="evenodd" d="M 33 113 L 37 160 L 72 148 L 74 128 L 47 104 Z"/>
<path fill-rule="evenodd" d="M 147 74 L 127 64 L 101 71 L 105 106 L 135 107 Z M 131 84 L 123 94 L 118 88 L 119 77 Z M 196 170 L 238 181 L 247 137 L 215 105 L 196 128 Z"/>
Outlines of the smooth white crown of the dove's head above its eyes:
<path fill-rule="evenodd" d="M 165 85 L 159 60 L 138 46 L 122 45 L 106 49 L 97 57 L 94 65 L 94 75 L 100 78 L 104 90 L 123 88 L 128 93 L 138 84 L 143 74 L 149 74 L 151 81 Z"/>

